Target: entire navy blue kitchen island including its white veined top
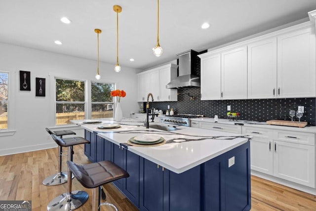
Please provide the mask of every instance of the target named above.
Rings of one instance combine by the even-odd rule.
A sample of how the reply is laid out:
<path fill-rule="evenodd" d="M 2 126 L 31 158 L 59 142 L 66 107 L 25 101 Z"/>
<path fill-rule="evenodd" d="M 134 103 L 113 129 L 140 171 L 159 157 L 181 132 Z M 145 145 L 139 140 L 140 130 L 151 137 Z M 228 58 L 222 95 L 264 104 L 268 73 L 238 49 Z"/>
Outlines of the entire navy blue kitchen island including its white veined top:
<path fill-rule="evenodd" d="M 130 174 L 114 184 L 140 211 L 250 210 L 249 137 L 192 127 L 168 132 L 129 122 L 114 129 L 78 125 L 90 141 L 84 154 L 91 162 L 110 160 Z M 149 133 L 166 143 L 127 143 Z"/>

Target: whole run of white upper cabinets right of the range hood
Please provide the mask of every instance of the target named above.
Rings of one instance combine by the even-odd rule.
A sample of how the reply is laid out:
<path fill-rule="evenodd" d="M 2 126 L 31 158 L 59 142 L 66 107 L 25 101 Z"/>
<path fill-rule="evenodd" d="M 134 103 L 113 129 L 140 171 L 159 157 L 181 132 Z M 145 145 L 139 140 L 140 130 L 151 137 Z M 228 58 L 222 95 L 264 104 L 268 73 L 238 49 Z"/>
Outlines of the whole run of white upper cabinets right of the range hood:
<path fill-rule="evenodd" d="M 315 97 L 315 49 L 307 22 L 200 54 L 201 100 Z"/>

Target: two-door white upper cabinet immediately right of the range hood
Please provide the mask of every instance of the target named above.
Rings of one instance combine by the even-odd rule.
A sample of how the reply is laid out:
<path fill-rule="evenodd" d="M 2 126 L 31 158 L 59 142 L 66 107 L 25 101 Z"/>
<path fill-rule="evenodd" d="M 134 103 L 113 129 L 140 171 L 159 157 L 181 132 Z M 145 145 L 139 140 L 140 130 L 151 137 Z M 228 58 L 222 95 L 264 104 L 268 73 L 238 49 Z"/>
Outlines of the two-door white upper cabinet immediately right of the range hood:
<path fill-rule="evenodd" d="M 247 99 L 247 47 L 201 58 L 201 100 Z"/>

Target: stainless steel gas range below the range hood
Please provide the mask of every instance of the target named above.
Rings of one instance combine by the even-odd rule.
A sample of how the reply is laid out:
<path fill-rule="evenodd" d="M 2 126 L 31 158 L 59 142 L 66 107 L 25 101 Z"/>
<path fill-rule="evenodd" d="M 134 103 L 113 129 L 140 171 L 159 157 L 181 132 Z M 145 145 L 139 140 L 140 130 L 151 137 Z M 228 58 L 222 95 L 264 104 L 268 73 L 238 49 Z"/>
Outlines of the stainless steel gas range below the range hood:
<path fill-rule="evenodd" d="M 194 114 L 177 114 L 177 115 L 165 115 L 160 117 L 160 123 L 173 124 L 178 126 L 187 126 L 191 127 L 192 118 L 200 118 L 204 115 L 194 115 Z"/>

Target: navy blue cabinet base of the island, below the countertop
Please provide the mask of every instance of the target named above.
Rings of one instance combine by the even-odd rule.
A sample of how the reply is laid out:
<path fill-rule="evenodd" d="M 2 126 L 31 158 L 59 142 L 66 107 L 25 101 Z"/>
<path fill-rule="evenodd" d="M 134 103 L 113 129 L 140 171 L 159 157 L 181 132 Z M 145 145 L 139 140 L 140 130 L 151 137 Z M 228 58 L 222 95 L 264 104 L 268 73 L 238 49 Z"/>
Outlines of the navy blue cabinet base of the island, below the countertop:
<path fill-rule="evenodd" d="M 86 131 L 85 137 L 96 143 L 90 145 L 96 161 L 111 160 L 129 173 L 113 184 L 140 211 L 250 210 L 250 142 L 178 174 L 96 133 Z"/>

